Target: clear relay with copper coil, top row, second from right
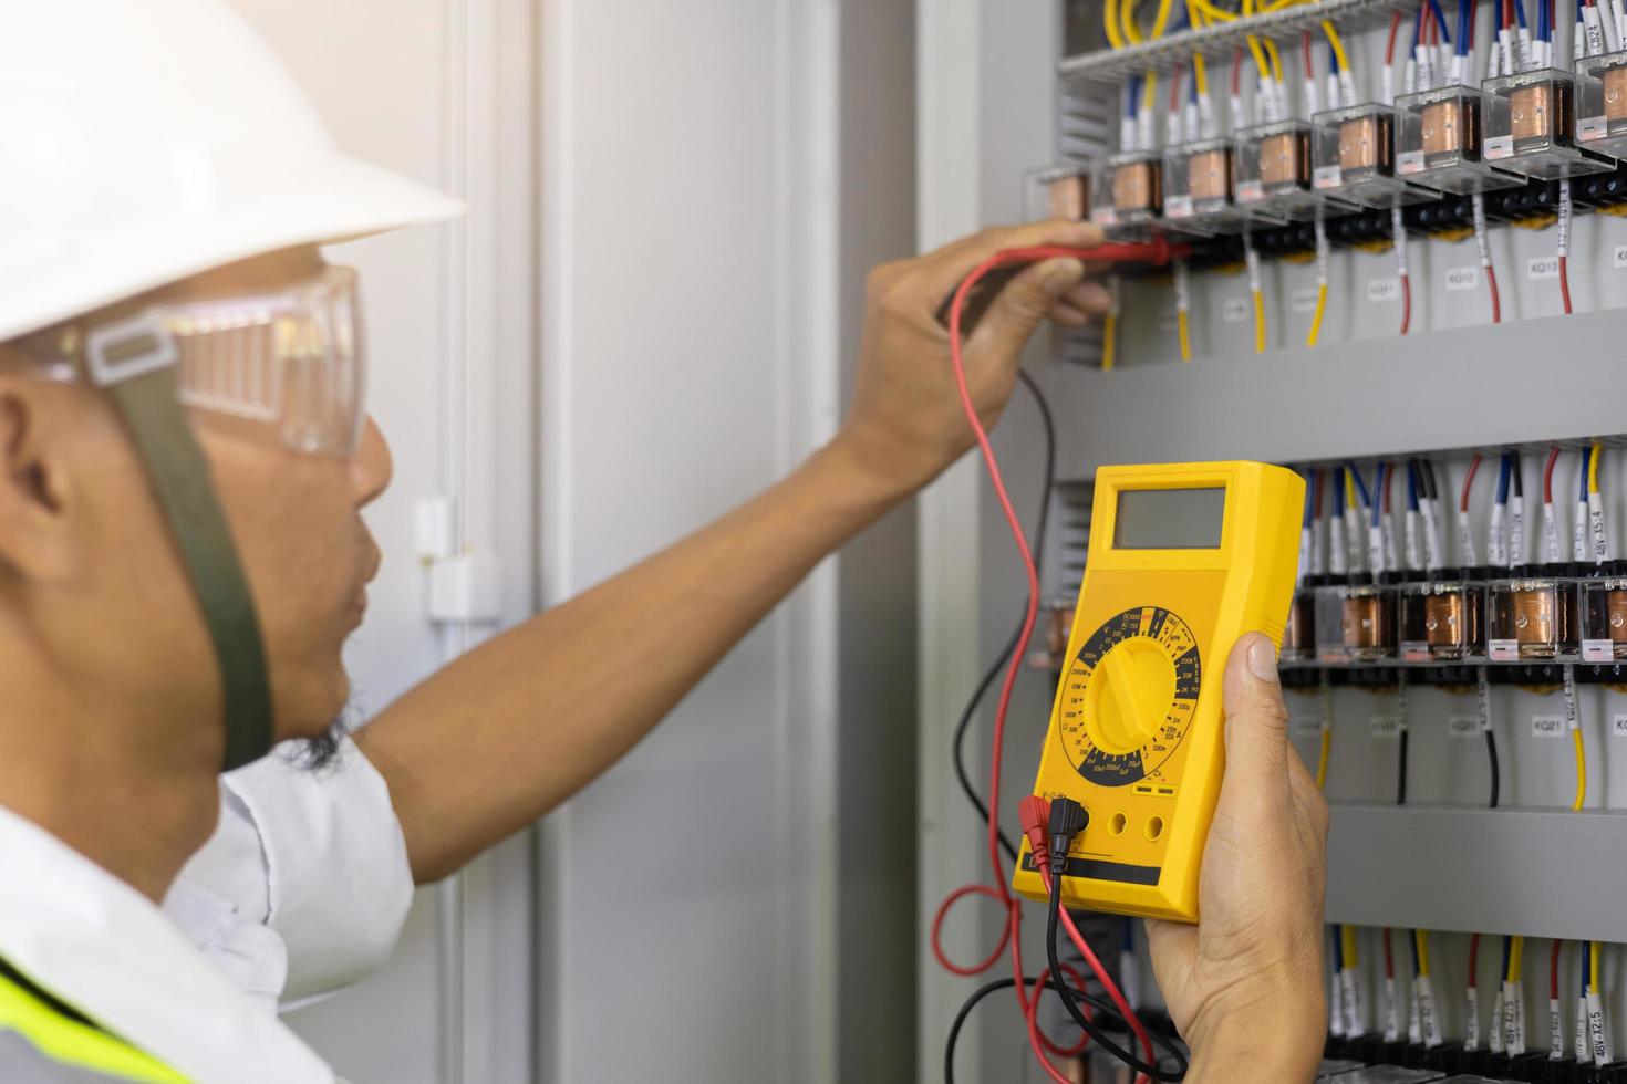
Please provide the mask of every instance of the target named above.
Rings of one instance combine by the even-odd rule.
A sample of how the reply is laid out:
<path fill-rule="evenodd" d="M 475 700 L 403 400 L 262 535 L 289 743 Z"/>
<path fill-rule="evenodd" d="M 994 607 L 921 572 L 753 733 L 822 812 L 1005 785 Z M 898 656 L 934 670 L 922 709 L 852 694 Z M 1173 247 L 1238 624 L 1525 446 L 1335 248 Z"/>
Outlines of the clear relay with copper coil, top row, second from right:
<path fill-rule="evenodd" d="M 1485 161 L 1542 180 L 1616 167 L 1611 158 L 1577 146 L 1575 80 L 1568 72 L 1503 75 L 1485 80 L 1482 89 Z"/>

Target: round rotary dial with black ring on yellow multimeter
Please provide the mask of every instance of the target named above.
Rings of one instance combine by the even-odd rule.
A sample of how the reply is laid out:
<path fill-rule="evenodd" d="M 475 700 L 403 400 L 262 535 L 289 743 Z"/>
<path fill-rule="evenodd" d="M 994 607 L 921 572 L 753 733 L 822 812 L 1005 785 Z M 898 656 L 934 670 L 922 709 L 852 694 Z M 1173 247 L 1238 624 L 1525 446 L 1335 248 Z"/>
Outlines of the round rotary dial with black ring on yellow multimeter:
<path fill-rule="evenodd" d="M 1062 683 L 1058 736 L 1074 770 L 1101 787 L 1158 772 L 1197 712 L 1201 678 L 1197 637 L 1168 609 L 1137 606 L 1103 622 Z"/>

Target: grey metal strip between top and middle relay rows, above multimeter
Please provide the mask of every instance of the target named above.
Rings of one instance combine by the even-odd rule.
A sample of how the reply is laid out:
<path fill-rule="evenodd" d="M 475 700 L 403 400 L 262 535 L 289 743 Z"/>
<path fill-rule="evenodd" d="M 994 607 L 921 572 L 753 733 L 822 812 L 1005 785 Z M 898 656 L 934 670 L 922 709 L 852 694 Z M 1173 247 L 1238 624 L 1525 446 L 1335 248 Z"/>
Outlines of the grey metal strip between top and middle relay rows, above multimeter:
<path fill-rule="evenodd" d="M 1624 332 L 1620 312 L 1601 310 L 1189 366 L 1051 364 L 1045 379 L 1074 423 L 1058 432 L 1067 478 L 1103 463 L 1546 445 L 1627 431 Z"/>

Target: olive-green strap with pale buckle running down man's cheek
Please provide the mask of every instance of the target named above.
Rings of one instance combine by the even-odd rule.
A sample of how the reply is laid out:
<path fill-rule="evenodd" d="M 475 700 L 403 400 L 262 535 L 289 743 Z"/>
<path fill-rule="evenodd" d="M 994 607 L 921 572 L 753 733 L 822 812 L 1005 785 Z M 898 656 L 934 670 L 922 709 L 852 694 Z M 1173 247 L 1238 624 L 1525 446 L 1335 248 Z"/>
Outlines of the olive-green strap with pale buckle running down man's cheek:
<path fill-rule="evenodd" d="M 85 364 L 135 440 L 215 644 L 226 725 L 221 770 L 259 761 L 273 741 L 260 622 L 208 462 L 181 405 L 174 340 L 148 317 L 101 325 L 86 336 Z"/>

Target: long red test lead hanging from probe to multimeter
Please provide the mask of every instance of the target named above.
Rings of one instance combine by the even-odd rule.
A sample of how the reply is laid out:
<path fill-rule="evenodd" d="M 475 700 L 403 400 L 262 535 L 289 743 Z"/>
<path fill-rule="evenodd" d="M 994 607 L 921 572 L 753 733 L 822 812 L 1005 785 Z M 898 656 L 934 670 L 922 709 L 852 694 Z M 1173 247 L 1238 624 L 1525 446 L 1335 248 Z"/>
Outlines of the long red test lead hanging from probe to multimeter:
<path fill-rule="evenodd" d="M 1001 684 L 999 704 L 994 710 L 994 738 L 989 756 L 989 821 L 988 821 L 988 848 L 989 848 L 988 853 L 989 853 L 989 866 L 994 871 L 994 887 L 984 884 L 970 884 L 955 889 L 955 892 L 952 892 L 950 897 L 944 900 L 932 921 L 932 954 L 950 972 L 958 975 L 968 975 L 992 967 L 994 960 L 999 957 L 999 952 L 1009 946 L 1012 960 L 1012 977 L 1017 980 L 1015 985 L 1017 1003 L 1022 1008 L 1022 1014 L 1025 1019 L 1028 1017 L 1028 993 L 1025 988 L 1023 969 L 1022 969 L 1022 938 L 1019 936 L 1019 923 L 1022 921 L 1022 904 L 1017 897 L 1012 895 L 1010 889 L 1005 884 L 1005 868 L 1001 861 L 1001 850 L 999 850 L 999 808 L 1001 808 L 1001 765 L 1005 748 L 1005 715 L 1010 710 L 1012 691 L 1015 689 L 1017 684 L 1017 674 L 1022 673 L 1025 666 L 1023 660 L 1028 655 L 1028 640 L 1033 635 L 1035 618 L 1038 616 L 1040 609 L 1040 575 L 1033 564 L 1033 553 L 1028 549 L 1028 538 L 1023 533 L 1023 525 L 1017 518 L 1017 510 L 1012 507 L 1010 494 L 1005 491 L 1005 479 L 1001 475 L 1001 465 L 999 458 L 994 455 L 994 445 L 989 444 L 989 434 L 983 427 L 983 419 L 978 418 L 976 403 L 971 400 L 971 387 L 966 380 L 966 361 L 962 353 L 960 320 L 962 320 L 962 312 L 966 306 L 966 296 L 971 293 L 973 286 L 976 286 L 983 280 L 983 276 L 986 276 L 994 268 L 1007 263 L 1033 263 L 1038 260 L 1049 260 L 1058 257 L 1100 258 L 1100 250 L 1069 249 L 1061 245 L 1041 245 L 1033 249 L 1007 249 L 1004 252 L 996 252 L 988 260 L 979 263 L 971 271 L 971 275 L 962 280 L 960 286 L 955 289 L 955 299 L 950 304 L 949 310 L 949 356 L 950 362 L 955 367 L 955 387 L 960 392 L 960 406 L 966 414 L 966 424 L 971 426 L 971 432 L 978 439 L 978 450 L 983 455 L 983 465 L 988 468 L 989 484 L 992 486 L 994 496 L 1001 505 L 1001 514 L 1005 517 L 1005 527 L 1010 530 L 1012 541 L 1017 544 L 1017 554 L 1022 559 L 1023 575 L 1028 580 L 1028 608 L 1023 613 L 1022 631 L 1019 632 L 1017 645 L 1010 657 L 1012 661 L 1005 668 L 1005 679 Z M 1049 891 L 1049 871 L 1046 868 L 1041 868 L 1040 876 L 1046 881 L 1046 889 Z M 942 943 L 939 939 L 945 912 L 955 900 L 963 899 L 966 895 L 989 895 L 991 899 L 1001 900 L 1007 908 L 1007 921 L 1001 931 L 1001 939 L 996 946 L 994 954 L 991 954 L 989 959 L 981 967 L 970 972 L 966 969 L 953 965 L 949 960 L 949 957 L 942 951 Z M 1067 928 L 1069 938 L 1072 938 L 1074 946 L 1079 949 L 1079 954 L 1085 959 L 1087 964 L 1090 964 L 1090 970 L 1095 972 L 1097 980 L 1101 983 L 1103 990 L 1108 991 L 1108 996 L 1113 999 L 1114 1008 L 1118 1008 L 1118 1011 L 1129 1022 L 1131 1030 L 1134 1030 L 1136 1037 L 1141 1040 L 1142 1050 L 1145 1051 L 1145 1061 L 1149 1064 L 1154 1063 L 1152 1038 L 1147 1035 L 1147 1029 L 1142 1027 L 1141 1019 L 1129 1008 L 1129 1004 L 1124 1003 L 1124 995 L 1119 991 L 1118 983 L 1113 982 L 1113 977 L 1108 975 L 1106 969 L 1101 965 L 1101 960 L 1097 959 L 1097 954 L 1090 951 L 1090 946 L 1085 943 L 1084 936 L 1080 936 L 1079 928 L 1074 925 L 1072 915 L 1069 915 L 1067 910 L 1064 908 L 1061 918 L 1062 925 Z M 1033 1035 L 1030 1035 L 1030 1040 L 1032 1038 Z M 1049 1060 L 1045 1058 L 1043 1045 L 1035 1043 L 1035 1053 L 1040 1058 L 1041 1068 L 1046 1069 L 1046 1073 L 1051 1076 L 1053 1081 L 1058 1081 L 1058 1084 L 1071 1084 L 1071 1081 L 1061 1073 L 1058 1073 L 1056 1068 L 1049 1063 Z"/>

